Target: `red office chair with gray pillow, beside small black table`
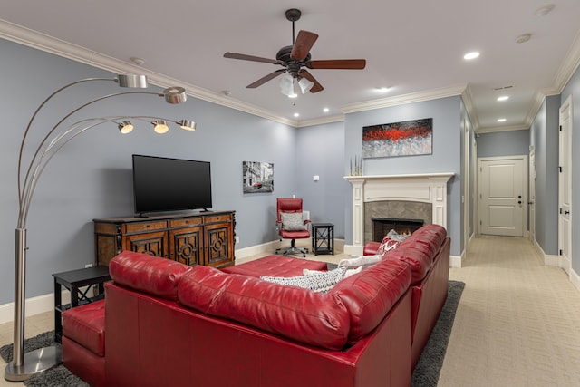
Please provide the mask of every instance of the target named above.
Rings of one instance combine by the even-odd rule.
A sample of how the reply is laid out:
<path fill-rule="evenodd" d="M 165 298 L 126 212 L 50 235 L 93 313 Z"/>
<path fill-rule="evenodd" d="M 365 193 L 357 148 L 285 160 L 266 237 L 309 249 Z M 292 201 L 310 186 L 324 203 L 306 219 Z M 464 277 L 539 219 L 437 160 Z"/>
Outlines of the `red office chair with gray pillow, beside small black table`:
<path fill-rule="evenodd" d="M 306 256 L 307 248 L 295 247 L 296 239 L 306 239 L 310 237 L 308 231 L 309 219 L 304 220 L 302 213 L 301 198 L 277 198 L 276 199 L 276 227 L 280 234 L 280 240 L 291 239 L 290 248 L 286 248 L 283 256 L 289 254 L 302 254 Z M 276 248 L 275 253 L 279 254 L 283 248 Z"/>

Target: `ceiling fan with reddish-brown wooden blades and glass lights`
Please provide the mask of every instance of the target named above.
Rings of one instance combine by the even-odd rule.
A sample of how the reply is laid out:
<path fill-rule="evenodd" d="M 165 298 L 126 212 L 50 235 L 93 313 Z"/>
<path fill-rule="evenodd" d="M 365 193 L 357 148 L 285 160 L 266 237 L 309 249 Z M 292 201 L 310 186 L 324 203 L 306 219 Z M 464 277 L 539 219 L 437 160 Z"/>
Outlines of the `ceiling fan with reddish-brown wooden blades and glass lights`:
<path fill-rule="evenodd" d="M 275 59 L 262 58 L 259 56 L 247 55 L 244 53 L 224 53 L 225 58 L 241 59 L 244 61 L 273 63 L 281 65 L 282 69 L 269 73 L 266 76 L 258 79 L 256 82 L 247 85 L 247 88 L 254 89 L 264 83 L 273 80 L 275 77 L 286 73 L 285 77 L 289 78 L 290 85 L 293 89 L 293 82 L 297 80 L 302 88 L 303 93 L 321 92 L 324 87 L 320 82 L 316 81 L 312 73 L 304 69 L 341 69 L 341 70 L 362 70 L 366 65 L 364 59 L 330 59 L 313 61 L 310 55 L 310 49 L 316 42 L 318 34 L 301 30 L 298 36 L 295 37 L 295 21 L 300 19 L 302 15 L 299 9 L 289 9 L 285 12 L 286 19 L 292 22 L 292 45 L 282 47 L 275 55 Z M 309 81 L 304 82 L 303 79 Z M 281 88 L 284 86 L 281 84 Z M 283 89 L 284 92 L 284 89 Z M 286 92 L 284 92 L 286 93 Z M 289 94 L 287 94 L 289 95 Z"/>

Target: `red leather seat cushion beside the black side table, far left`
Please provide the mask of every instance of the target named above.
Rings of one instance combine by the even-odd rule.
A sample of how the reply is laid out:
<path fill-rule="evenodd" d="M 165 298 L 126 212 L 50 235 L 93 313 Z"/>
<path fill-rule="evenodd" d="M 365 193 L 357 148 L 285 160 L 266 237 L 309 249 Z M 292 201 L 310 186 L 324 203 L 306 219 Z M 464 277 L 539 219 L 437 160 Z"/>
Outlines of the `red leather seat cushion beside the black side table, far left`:
<path fill-rule="evenodd" d="M 105 355 L 105 300 L 63 313 L 63 335 L 97 356 Z"/>

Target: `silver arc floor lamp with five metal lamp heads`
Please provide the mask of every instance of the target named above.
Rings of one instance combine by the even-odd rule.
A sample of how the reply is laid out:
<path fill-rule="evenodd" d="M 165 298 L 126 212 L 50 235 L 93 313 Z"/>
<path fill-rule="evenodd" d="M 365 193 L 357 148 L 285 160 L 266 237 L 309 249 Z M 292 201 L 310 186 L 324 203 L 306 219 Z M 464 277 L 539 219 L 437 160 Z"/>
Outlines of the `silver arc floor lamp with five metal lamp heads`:
<path fill-rule="evenodd" d="M 165 133 L 169 130 L 167 122 L 178 124 L 181 128 L 189 131 L 195 131 L 195 122 L 189 120 L 173 121 L 169 119 L 150 117 L 150 116 L 111 116 L 88 118 L 81 121 L 76 121 L 70 126 L 62 127 L 64 121 L 71 117 L 77 111 L 91 105 L 112 97 L 119 97 L 130 94 L 150 94 L 164 97 L 165 102 L 181 103 L 185 102 L 187 95 L 185 89 L 182 87 L 169 87 L 163 92 L 116 92 L 104 95 L 73 109 L 63 118 L 58 121 L 53 128 L 46 133 L 40 144 L 37 145 L 34 155 L 24 169 L 23 156 L 24 147 L 26 145 L 26 138 L 29 131 L 34 126 L 34 119 L 44 105 L 53 99 L 55 95 L 63 90 L 82 83 L 92 81 L 112 81 L 119 83 L 121 87 L 127 88 L 147 88 L 148 82 L 145 75 L 121 74 L 115 78 L 86 78 L 80 81 L 68 83 L 60 89 L 49 95 L 34 111 L 28 126 L 24 131 L 24 136 L 20 145 L 18 154 L 18 222 L 15 233 L 15 262 L 14 262 L 14 348 L 13 360 L 6 365 L 5 379 L 11 382 L 24 381 L 36 373 L 46 371 L 53 366 L 62 362 L 62 353 L 59 345 L 53 345 L 39 350 L 24 353 L 24 304 L 25 304 L 25 279 L 26 279 L 26 220 L 28 218 L 28 210 L 33 199 L 34 189 L 38 179 L 41 177 L 46 165 L 56 153 L 63 148 L 70 140 L 73 140 L 78 135 L 85 131 L 97 128 L 105 123 L 116 124 L 122 134 L 132 131 L 133 124 L 130 120 L 150 121 L 153 125 L 154 131 L 157 133 Z"/>

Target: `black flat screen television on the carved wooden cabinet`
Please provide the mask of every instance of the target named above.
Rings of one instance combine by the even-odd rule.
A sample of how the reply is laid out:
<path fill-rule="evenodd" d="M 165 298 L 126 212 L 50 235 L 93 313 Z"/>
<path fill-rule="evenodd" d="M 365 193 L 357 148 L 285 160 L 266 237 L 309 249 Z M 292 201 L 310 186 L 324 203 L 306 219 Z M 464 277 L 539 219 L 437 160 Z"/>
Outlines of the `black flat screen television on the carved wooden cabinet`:
<path fill-rule="evenodd" d="M 136 214 L 211 208 L 208 161 L 133 155 Z"/>

